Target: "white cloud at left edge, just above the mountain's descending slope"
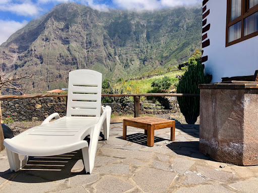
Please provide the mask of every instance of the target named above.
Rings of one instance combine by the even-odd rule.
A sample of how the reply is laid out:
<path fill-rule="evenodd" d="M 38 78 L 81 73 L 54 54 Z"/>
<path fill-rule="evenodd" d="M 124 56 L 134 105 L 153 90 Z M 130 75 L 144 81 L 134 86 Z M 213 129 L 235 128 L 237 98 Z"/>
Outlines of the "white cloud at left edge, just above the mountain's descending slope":
<path fill-rule="evenodd" d="M 23 28 L 26 24 L 28 24 L 27 21 L 23 22 L 16 22 L 16 21 L 4 21 L 0 20 L 0 44 L 4 43 L 7 41 L 7 39 L 15 33 L 17 30 Z"/>

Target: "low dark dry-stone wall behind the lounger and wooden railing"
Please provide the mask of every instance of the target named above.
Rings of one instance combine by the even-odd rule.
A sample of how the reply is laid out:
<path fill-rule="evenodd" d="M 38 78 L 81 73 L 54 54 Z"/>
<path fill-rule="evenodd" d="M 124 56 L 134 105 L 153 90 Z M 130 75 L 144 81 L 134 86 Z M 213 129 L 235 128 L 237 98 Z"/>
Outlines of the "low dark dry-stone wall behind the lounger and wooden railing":
<path fill-rule="evenodd" d="M 134 103 L 104 103 L 116 115 L 134 114 Z M 15 121 L 43 121 L 52 113 L 66 115 L 66 98 L 40 98 L 1 101 L 3 119 L 12 117 Z M 167 107 L 149 102 L 140 103 L 140 111 L 145 114 L 166 114 L 180 111 L 177 101 L 169 101 Z"/>

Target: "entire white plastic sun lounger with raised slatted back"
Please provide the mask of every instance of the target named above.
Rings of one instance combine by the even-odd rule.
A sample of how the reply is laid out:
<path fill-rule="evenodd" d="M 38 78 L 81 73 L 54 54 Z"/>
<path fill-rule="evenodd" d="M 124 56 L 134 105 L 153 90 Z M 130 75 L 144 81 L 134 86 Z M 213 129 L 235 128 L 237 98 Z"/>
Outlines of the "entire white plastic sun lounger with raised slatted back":
<path fill-rule="evenodd" d="M 60 118 L 53 113 L 40 126 L 4 140 L 11 171 L 24 167 L 29 156 L 52 156 L 82 149 L 85 170 L 91 173 L 102 125 L 104 138 L 107 140 L 109 136 L 111 108 L 101 107 L 101 83 L 99 72 L 70 72 L 67 116 Z M 89 146 L 84 140 L 87 135 Z M 18 154 L 26 156 L 20 161 Z"/>

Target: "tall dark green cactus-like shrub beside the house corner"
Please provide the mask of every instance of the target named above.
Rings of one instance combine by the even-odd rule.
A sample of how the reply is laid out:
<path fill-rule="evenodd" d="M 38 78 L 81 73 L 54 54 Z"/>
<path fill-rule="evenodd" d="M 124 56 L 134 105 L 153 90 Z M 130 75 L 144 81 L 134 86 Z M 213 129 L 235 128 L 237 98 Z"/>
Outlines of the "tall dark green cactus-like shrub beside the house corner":
<path fill-rule="evenodd" d="M 211 76 L 204 74 L 204 67 L 200 60 L 190 59 L 188 70 L 177 85 L 177 93 L 200 93 L 198 84 L 208 84 Z M 179 108 L 186 123 L 195 124 L 200 115 L 200 97 L 177 97 Z"/>

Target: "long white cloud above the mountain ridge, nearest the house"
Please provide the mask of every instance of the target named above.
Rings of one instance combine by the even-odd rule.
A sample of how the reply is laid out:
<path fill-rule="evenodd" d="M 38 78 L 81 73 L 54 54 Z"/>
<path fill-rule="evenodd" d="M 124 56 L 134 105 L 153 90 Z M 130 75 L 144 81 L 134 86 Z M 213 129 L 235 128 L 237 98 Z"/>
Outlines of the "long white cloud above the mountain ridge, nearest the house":
<path fill-rule="evenodd" d="M 128 10 L 155 10 L 176 6 L 188 6 L 201 2 L 201 0 L 113 0 L 119 8 Z"/>

